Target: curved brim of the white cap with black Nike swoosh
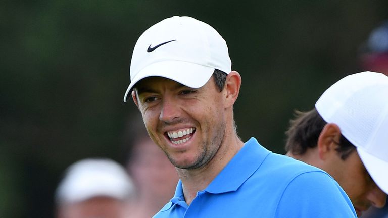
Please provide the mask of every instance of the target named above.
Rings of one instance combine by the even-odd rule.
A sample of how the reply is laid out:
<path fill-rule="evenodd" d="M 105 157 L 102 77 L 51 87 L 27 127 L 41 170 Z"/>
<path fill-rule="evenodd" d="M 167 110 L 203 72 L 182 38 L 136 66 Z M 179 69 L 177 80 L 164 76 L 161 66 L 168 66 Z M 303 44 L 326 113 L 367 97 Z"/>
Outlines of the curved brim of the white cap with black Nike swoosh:
<path fill-rule="evenodd" d="M 174 80 L 190 88 L 200 88 L 204 86 L 214 72 L 214 68 L 183 61 L 161 61 L 156 62 L 139 71 L 129 84 L 124 95 L 124 102 L 127 101 L 128 94 L 133 86 L 140 80 L 160 76 Z"/>

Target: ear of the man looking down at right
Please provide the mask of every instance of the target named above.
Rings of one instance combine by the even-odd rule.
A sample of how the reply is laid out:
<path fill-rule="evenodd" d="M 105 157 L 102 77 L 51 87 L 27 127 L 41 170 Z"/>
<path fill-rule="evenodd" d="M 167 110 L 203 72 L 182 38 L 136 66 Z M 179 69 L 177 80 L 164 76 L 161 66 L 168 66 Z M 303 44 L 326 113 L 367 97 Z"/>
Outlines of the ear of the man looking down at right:
<path fill-rule="evenodd" d="M 334 123 L 326 124 L 318 137 L 319 158 L 326 160 L 330 155 L 337 155 L 336 148 L 340 142 L 341 130 Z"/>

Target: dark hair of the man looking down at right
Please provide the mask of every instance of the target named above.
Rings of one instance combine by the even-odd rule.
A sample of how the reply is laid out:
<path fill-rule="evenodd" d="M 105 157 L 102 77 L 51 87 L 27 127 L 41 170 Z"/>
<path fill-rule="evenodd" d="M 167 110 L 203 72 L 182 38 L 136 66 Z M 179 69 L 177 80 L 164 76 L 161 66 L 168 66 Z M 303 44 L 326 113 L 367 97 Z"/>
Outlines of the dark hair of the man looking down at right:
<path fill-rule="evenodd" d="M 285 132 L 287 135 L 285 150 L 297 155 L 317 146 L 319 135 L 327 124 L 315 108 L 308 112 L 295 111 L 295 119 L 289 123 L 290 126 Z M 342 134 L 340 142 L 336 143 L 339 145 L 336 150 L 343 160 L 356 149 Z"/>

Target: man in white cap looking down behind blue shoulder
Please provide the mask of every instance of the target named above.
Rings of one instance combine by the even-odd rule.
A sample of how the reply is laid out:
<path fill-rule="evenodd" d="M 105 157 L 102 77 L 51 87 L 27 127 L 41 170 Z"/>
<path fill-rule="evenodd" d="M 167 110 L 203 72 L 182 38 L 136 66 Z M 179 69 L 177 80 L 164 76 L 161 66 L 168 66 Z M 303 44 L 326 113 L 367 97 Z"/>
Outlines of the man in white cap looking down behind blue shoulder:
<path fill-rule="evenodd" d="M 329 173 L 359 216 L 371 205 L 383 207 L 388 193 L 387 96 L 384 74 L 347 76 L 313 110 L 299 113 L 286 132 L 287 155 Z"/>

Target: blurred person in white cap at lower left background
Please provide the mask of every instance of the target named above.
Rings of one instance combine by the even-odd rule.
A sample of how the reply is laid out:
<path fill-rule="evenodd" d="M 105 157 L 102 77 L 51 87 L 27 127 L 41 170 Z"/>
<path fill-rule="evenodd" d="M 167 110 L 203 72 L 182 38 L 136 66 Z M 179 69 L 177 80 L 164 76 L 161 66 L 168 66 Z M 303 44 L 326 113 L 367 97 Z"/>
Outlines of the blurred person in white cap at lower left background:
<path fill-rule="evenodd" d="M 126 218 L 134 185 L 119 163 L 87 158 L 73 163 L 56 194 L 57 218 Z"/>

